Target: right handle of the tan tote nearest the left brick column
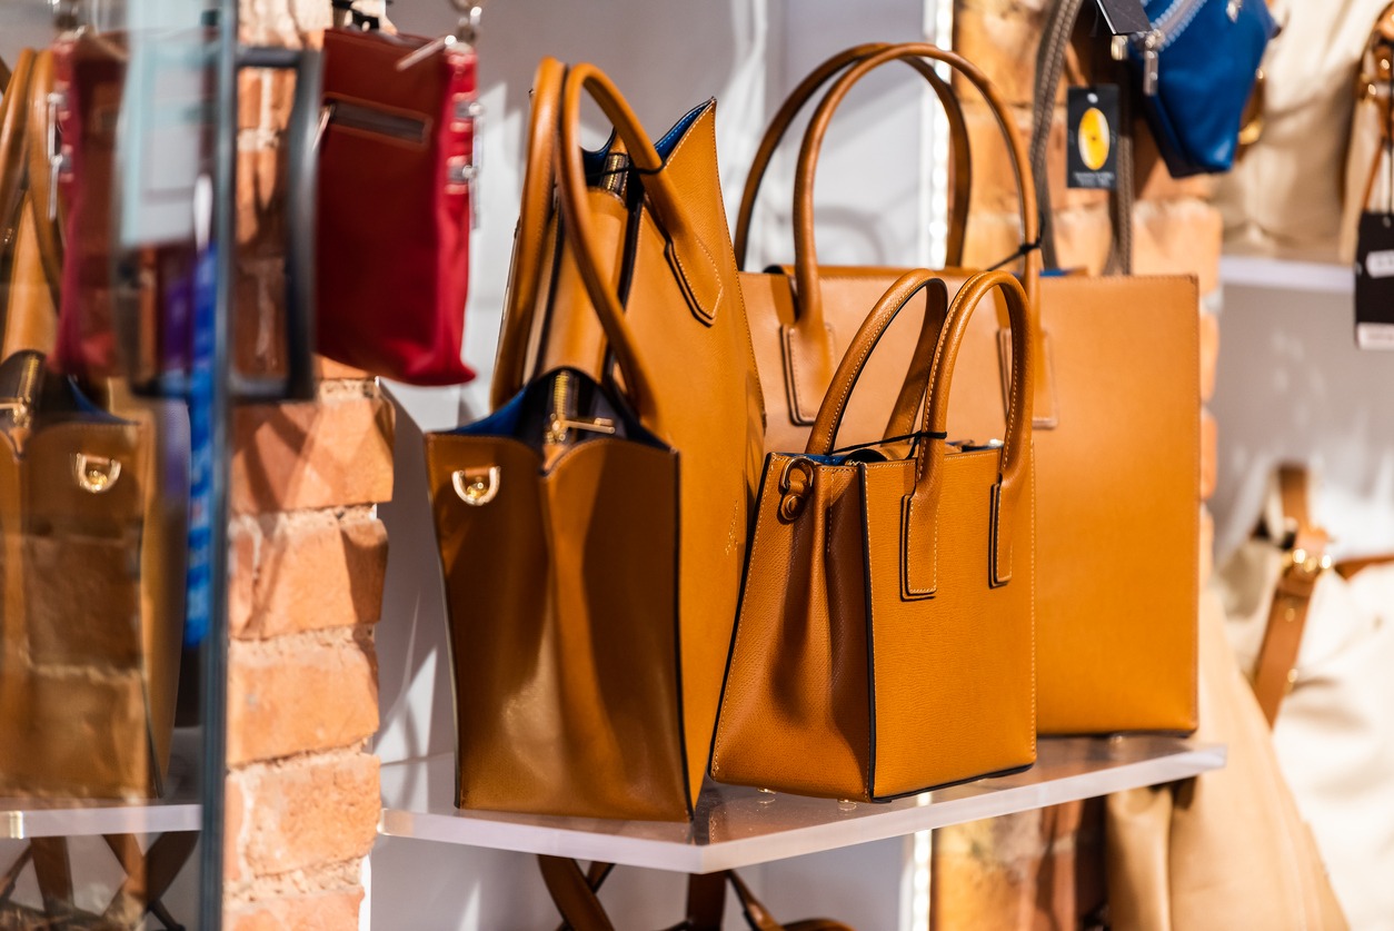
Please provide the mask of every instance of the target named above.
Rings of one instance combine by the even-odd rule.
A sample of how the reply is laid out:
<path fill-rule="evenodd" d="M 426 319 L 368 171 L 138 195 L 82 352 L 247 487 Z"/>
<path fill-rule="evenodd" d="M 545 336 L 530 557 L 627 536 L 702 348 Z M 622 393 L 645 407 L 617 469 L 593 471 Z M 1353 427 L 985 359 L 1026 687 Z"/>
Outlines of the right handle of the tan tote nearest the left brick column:
<path fill-rule="evenodd" d="M 594 64 L 574 66 L 567 73 L 562 89 L 558 151 L 553 152 L 560 174 L 562 219 L 574 244 L 577 271 L 585 282 L 585 290 L 609 341 L 611 352 L 615 353 L 615 362 L 625 375 L 625 391 L 630 403 L 634 405 L 644 426 L 658 435 L 665 435 L 652 391 L 654 380 L 638 356 L 638 343 L 625 317 L 619 295 L 609 278 L 601 272 L 602 262 L 587 197 L 590 188 L 581 163 L 581 95 L 590 95 L 599 105 L 625 142 L 630 159 L 640 172 L 638 177 L 643 179 L 644 193 L 659 223 L 668 232 L 668 253 L 673 271 L 686 285 L 687 299 L 708 318 L 715 314 L 717 303 L 721 300 L 721 279 L 717 276 L 711 255 L 686 222 L 679 194 L 673 190 L 672 179 L 662 172 L 664 162 L 640 127 L 638 117 L 604 71 Z"/>

